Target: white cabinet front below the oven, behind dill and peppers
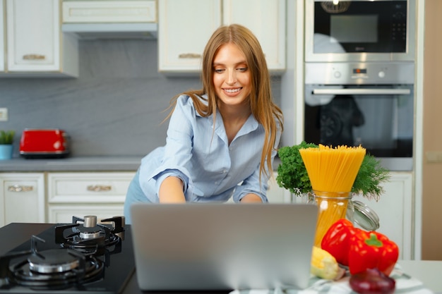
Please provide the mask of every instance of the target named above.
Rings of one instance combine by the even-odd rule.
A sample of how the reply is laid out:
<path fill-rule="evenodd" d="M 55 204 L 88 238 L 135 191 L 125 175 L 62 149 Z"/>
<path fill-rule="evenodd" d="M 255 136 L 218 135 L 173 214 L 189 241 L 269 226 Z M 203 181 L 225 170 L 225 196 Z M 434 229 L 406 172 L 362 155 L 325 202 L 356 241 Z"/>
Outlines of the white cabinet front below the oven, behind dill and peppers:
<path fill-rule="evenodd" d="M 377 231 L 398 244 L 399 259 L 411 259 L 414 243 L 412 173 L 390 172 L 390 175 L 378 202 L 364 197 L 354 197 L 354 200 L 364 202 L 378 214 L 381 226 Z"/>

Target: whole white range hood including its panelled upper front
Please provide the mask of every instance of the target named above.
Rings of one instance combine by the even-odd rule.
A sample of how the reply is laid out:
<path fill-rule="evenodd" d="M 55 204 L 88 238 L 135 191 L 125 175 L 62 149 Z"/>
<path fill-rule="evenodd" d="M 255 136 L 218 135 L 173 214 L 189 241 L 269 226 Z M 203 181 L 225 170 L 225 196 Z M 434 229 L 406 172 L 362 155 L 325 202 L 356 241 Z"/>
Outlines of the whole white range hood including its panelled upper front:
<path fill-rule="evenodd" d="M 81 39 L 153 39 L 157 30 L 155 0 L 63 1 L 61 31 Z"/>

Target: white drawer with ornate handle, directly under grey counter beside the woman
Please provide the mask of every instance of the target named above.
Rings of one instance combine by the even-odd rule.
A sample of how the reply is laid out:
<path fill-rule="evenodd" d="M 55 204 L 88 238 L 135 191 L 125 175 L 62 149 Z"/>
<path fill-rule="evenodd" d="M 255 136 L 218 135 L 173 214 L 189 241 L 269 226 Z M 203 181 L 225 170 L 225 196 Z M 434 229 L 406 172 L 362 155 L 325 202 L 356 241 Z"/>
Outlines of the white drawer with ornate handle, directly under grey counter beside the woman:
<path fill-rule="evenodd" d="M 49 203 L 124 203 L 135 172 L 48 173 Z"/>

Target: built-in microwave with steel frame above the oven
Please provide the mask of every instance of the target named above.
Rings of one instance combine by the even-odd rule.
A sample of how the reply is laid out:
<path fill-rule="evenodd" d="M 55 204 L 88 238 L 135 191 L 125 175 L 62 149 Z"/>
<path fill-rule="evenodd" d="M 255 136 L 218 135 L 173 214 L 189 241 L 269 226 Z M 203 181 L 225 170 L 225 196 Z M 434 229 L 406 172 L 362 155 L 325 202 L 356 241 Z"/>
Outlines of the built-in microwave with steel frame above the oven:
<path fill-rule="evenodd" d="M 306 0 L 305 61 L 414 61 L 416 0 Z"/>

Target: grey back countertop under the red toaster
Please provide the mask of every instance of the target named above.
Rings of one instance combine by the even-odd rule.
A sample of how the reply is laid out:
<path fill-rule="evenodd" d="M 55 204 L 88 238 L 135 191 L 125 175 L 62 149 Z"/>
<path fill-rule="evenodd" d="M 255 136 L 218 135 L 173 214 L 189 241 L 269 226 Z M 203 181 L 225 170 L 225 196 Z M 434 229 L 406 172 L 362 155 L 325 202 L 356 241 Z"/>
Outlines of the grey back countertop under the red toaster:
<path fill-rule="evenodd" d="M 15 171 L 136 171 L 143 157 L 13 158 L 0 161 L 0 172 Z"/>

